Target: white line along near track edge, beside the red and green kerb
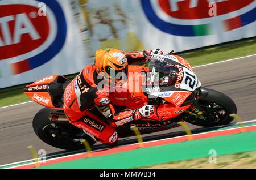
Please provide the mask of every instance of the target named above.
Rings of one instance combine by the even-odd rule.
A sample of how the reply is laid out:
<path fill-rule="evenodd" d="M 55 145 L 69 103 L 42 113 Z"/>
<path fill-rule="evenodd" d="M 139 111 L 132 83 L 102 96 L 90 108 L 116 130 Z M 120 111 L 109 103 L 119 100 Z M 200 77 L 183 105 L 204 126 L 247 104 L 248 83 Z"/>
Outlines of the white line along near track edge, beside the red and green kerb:
<path fill-rule="evenodd" d="M 250 123 L 250 122 L 256 122 L 256 119 L 249 120 L 249 121 L 244 121 L 243 123 Z M 238 122 L 238 123 L 235 123 L 234 125 L 238 125 L 238 124 L 240 124 L 240 123 L 241 123 L 241 122 Z M 251 125 L 251 126 L 255 126 L 255 125 Z M 221 126 L 220 126 L 220 127 L 221 127 Z M 229 126 L 224 126 L 224 127 L 229 127 Z M 250 126 L 246 126 L 246 127 L 250 127 Z M 241 127 L 230 128 L 230 129 L 228 129 L 228 130 L 233 130 L 233 129 L 237 129 L 237 128 L 241 128 Z M 217 130 L 217 131 L 225 131 L 225 130 Z M 207 133 L 208 133 L 208 132 L 201 132 L 201 133 L 192 134 L 192 135 L 207 134 Z M 187 136 L 187 135 L 184 135 L 184 136 Z M 177 137 L 172 137 L 172 138 L 151 140 L 151 141 L 147 141 L 147 142 L 143 142 L 143 143 L 150 143 L 150 142 L 162 141 L 162 140 L 166 140 L 166 139 L 180 138 L 180 137 L 184 137 L 184 136 L 177 136 Z M 134 143 L 134 144 L 138 144 L 138 143 Z M 128 144 L 128 145 L 133 145 L 133 144 Z M 120 147 L 122 147 L 122 146 L 124 146 L 124 145 L 121 145 Z M 105 149 L 108 149 L 108 148 L 105 148 Z M 92 152 L 97 152 L 97 151 L 102 151 L 102 150 L 104 150 L 104 149 L 98 149 L 98 150 L 95 150 L 95 151 L 92 151 Z M 76 151 L 74 151 L 74 152 L 76 152 Z M 72 152 L 67 152 L 67 153 L 72 153 Z M 67 153 L 60 153 L 60 154 L 52 155 L 52 156 L 61 156 L 61 155 L 65 155 L 65 154 L 67 154 Z M 86 153 L 86 152 L 75 153 L 75 154 L 73 154 L 73 155 L 67 155 L 67 156 L 61 156 L 61 157 L 55 157 L 55 158 L 50 158 L 50 157 L 52 157 L 52 156 L 47 156 L 46 158 L 50 158 L 50 159 L 48 159 L 48 160 L 46 160 L 46 161 L 55 160 L 55 159 L 63 158 L 63 157 L 81 155 L 82 153 Z M 29 162 L 29 161 L 34 161 L 34 159 L 26 160 L 26 161 L 13 162 L 13 163 L 10 163 L 10 164 L 5 164 L 5 165 L 0 165 L 0 168 L 5 167 L 5 166 L 20 164 L 20 163 L 24 163 L 24 162 Z M 34 162 L 28 163 L 28 164 L 26 164 L 26 165 L 29 165 L 29 164 L 34 164 Z M 23 164 L 23 165 L 24 165 L 24 164 Z M 23 166 L 23 165 L 12 166 L 12 167 L 10 167 L 10 168 L 15 168 L 15 167 Z"/>

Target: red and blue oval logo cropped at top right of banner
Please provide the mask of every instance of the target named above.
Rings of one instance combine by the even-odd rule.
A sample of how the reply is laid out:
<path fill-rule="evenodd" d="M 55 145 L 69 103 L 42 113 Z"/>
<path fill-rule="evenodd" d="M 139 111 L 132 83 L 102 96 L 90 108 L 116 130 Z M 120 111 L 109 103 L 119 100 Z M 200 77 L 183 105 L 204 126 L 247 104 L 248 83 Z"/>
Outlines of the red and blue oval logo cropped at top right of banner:
<path fill-rule="evenodd" d="M 216 5 L 216 16 L 209 13 L 211 2 Z M 256 20 L 254 0 L 141 0 L 141 4 L 152 25 L 175 36 L 207 36 L 214 31 L 228 32 Z M 220 28 L 215 30 L 214 27 Z"/>

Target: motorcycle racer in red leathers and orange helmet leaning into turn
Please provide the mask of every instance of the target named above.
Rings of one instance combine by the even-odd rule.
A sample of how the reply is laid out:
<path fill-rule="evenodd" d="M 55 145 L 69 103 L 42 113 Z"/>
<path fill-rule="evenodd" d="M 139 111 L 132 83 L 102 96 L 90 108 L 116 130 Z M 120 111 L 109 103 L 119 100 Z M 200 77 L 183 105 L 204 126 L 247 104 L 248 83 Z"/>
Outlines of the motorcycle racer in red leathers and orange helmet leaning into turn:
<path fill-rule="evenodd" d="M 116 84 L 118 80 L 115 75 L 118 72 L 127 75 L 128 65 L 144 61 L 146 55 L 163 54 L 162 50 L 144 50 L 143 52 L 122 52 L 118 49 L 105 48 L 96 51 L 94 65 L 86 66 L 77 75 L 64 92 L 64 112 L 69 122 L 76 127 L 82 128 L 85 134 L 94 140 L 104 144 L 114 144 L 118 140 L 118 134 L 114 127 L 124 123 L 148 117 L 154 113 L 153 105 L 144 105 L 134 110 L 123 110 L 116 112 L 108 98 L 106 88 L 98 89 L 104 78 L 109 83 Z M 89 109 L 96 107 L 109 123 L 96 121 L 86 113 Z"/>

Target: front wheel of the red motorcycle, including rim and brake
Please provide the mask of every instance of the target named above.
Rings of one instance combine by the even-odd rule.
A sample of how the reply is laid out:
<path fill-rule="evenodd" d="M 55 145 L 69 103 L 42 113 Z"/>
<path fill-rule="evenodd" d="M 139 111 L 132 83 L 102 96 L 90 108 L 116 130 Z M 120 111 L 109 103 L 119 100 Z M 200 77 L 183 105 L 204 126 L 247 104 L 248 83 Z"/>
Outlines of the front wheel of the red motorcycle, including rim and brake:
<path fill-rule="evenodd" d="M 185 121 L 193 125 L 214 127 L 226 125 L 233 121 L 230 114 L 236 114 L 234 101 L 221 92 L 208 89 L 208 95 L 197 100 L 184 116 Z"/>

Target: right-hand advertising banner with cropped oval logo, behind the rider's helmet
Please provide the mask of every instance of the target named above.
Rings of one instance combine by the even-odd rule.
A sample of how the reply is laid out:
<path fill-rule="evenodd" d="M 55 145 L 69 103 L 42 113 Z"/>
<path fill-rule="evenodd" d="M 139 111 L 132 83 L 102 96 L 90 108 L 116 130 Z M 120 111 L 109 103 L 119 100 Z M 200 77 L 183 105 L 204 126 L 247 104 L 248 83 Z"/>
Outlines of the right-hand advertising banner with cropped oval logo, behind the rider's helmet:
<path fill-rule="evenodd" d="M 89 52 L 108 47 L 181 52 L 256 36 L 254 0 L 71 2 Z"/>

